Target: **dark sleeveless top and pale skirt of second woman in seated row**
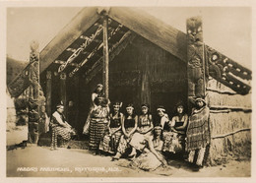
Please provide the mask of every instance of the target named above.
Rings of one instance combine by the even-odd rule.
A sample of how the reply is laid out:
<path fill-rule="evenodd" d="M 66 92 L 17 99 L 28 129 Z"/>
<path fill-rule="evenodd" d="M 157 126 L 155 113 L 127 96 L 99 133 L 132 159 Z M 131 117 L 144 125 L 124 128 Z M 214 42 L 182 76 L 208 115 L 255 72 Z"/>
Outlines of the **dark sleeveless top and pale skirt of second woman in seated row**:
<path fill-rule="evenodd" d="M 130 133 L 134 129 L 136 117 L 137 117 L 136 115 L 132 116 L 132 118 L 125 117 L 124 128 L 125 128 L 126 133 Z M 133 134 L 129 138 L 125 138 L 124 135 L 121 136 L 119 145 L 117 148 L 117 152 L 119 152 L 121 154 L 126 152 L 126 150 L 128 148 L 128 144 L 130 143 L 130 141 L 132 139 L 132 136 L 133 136 Z"/>

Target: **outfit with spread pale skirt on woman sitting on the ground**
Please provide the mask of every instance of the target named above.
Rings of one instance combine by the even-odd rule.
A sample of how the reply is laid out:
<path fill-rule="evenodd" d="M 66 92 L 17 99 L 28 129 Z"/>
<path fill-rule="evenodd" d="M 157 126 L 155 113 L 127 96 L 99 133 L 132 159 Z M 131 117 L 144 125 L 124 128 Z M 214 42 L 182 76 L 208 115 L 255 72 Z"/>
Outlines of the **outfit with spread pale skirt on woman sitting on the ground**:
<path fill-rule="evenodd" d="M 154 149 L 159 154 L 159 156 L 164 159 L 163 155 L 161 154 L 163 141 L 158 141 L 153 138 L 149 138 L 149 141 L 153 142 Z M 150 151 L 149 147 L 145 148 L 143 152 L 131 162 L 132 166 L 139 167 L 140 169 L 146 171 L 156 170 L 158 167 L 160 167 L 161 164 L 162 162 L 160 159 L 156 156 L 155 153 Z"/>

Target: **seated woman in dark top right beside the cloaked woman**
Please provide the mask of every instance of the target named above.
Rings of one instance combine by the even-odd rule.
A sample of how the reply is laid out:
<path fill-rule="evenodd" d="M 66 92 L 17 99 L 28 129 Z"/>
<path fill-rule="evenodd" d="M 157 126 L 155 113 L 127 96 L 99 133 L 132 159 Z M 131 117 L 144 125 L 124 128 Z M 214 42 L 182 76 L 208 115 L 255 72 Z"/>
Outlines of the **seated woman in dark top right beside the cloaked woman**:
<path fill-rule="evenodd" d="M 184 105 L 179 102 L 176 105 L 176 115 L 172 117 L 171 139 L 164 142 L 164 152 L 183 152 L 185 150 L 185 132 L 188 123 L 188 115 L 184 113 Z"/>

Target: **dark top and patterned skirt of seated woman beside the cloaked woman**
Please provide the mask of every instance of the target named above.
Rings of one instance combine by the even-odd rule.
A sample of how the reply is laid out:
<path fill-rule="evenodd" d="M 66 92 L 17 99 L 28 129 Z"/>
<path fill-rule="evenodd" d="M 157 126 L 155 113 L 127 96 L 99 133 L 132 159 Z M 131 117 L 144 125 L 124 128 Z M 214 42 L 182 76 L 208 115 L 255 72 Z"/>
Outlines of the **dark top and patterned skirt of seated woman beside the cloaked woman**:
<path fill-rule="evenodd" d="M 187 121 L 187 119 L 188 119 L 187 114 L 183 114 L 181 116 L 181 118 L 179 116 L 172 117 L 171 127 L 174 128 L 176 131 L 178 131 L 180 133 L 169 132 L 169 134 L 171 134 L 171 135 L 168 136 L 169 139 L 164 141 L 163 152 L 177 153 L 177 152 L 183 152 L 184 151 L 184 148 L 185 148 L 185 131 L 186 131 L 186 129 L 179 130 L 179 129 L 176 129 L 176 128 L 180 127 L 180 126 L 183 126 L 184 122 Z"/>

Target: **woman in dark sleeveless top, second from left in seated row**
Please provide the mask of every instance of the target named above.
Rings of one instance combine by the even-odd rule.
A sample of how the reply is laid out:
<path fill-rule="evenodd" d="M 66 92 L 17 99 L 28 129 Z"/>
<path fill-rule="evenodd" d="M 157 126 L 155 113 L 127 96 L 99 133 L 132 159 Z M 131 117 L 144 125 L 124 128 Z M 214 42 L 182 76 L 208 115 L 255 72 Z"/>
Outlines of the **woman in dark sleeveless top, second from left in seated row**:
<path fill-rule="evenodd" d="M 117 160 L 128 149 L 134 132 L 138 126 L 138 116 L 134 112 L 133 104 L 128 104 L 126 107 L 126 114 L 121 121 L 123 135 L 120 138 L 119 145 L 116 154 L 112 157 L 112 160 Z M 134 148 L 133 148 L 134 149 Z M 132 150 L 134 152 L 136 150 Z"/>

